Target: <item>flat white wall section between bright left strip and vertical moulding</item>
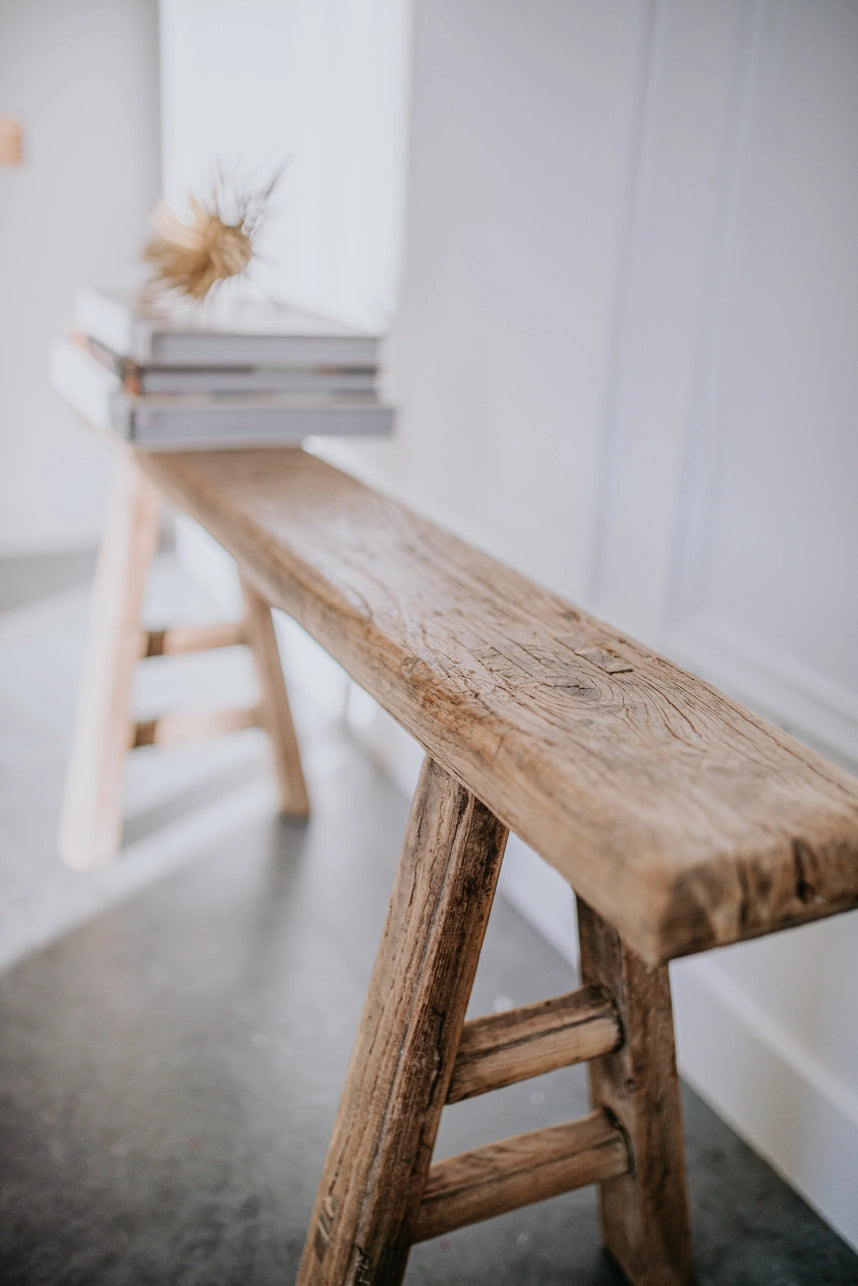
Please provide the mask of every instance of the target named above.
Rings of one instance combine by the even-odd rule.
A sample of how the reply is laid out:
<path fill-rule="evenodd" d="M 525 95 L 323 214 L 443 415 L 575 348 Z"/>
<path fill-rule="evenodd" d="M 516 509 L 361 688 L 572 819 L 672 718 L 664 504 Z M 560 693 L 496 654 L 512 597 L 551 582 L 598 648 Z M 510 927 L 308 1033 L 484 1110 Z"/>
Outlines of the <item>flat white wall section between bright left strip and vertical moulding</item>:
<path fill-rule="evenodd" d="M 395 444 L 352 451 L 584 585 L 637 84 L 626 5 L 418 5 Z"/>

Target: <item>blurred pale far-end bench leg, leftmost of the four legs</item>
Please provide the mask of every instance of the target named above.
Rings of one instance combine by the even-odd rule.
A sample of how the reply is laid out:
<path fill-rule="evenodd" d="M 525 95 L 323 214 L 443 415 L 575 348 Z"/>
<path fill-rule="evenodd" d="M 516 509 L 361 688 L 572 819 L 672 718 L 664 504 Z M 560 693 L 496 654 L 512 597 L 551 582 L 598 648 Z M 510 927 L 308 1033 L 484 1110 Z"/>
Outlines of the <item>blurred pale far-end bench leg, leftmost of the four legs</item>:
<path fill-rule="evenodd" d="M 140 610 L 158 544 L 160 513 L 157 490 L 123 453 L 95 571 L 59 820 L 59 855 L 78 869 L 113 858 L 122 838 L 131 683 L 140 656 Z"/>

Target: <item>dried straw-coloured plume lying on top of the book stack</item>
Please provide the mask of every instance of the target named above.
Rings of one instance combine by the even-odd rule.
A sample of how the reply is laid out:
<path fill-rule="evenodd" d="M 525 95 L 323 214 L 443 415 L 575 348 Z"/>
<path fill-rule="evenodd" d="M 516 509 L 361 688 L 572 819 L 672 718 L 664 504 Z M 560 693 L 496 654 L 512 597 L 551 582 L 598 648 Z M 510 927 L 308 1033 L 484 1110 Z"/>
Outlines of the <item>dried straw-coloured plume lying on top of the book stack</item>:
<path fill-rule="evenodd" d="M 154 235 L 143 249 L 149 289 L 203 300 L 224 282 L 243 276 L 279 177 L 278 170 L 261 190 L 242 192 L 217 175 L 207 201 L 188 199 L 184 219 L 161 202 L 151 220 Z"/>

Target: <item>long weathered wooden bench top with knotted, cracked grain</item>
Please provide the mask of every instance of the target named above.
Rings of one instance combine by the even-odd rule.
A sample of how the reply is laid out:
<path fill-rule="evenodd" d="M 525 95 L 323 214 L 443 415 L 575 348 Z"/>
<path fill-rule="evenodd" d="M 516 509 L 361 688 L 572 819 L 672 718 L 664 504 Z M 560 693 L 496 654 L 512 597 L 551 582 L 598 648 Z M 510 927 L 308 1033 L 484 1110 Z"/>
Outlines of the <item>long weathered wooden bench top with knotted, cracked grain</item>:
<path fill-rule="evenodd" d="M 298 449 L 161 489 L 655 964 L 858 904 L 858 781 Z"/>

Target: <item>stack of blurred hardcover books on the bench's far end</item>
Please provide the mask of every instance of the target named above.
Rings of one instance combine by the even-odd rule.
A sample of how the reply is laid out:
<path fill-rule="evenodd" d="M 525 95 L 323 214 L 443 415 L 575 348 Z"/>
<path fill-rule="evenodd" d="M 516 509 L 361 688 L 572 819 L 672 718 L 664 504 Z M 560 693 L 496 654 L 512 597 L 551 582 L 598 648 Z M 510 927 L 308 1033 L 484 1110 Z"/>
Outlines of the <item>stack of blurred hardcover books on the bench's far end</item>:
<path fill-rule="evenodd" d="M 50 369 L 85 419 L 143 450 L 273 446 L 390 433 L 379 341 L 279 305 L 147 307 L 84 291 Z"/>

